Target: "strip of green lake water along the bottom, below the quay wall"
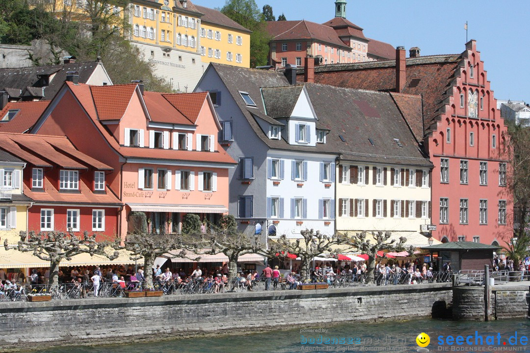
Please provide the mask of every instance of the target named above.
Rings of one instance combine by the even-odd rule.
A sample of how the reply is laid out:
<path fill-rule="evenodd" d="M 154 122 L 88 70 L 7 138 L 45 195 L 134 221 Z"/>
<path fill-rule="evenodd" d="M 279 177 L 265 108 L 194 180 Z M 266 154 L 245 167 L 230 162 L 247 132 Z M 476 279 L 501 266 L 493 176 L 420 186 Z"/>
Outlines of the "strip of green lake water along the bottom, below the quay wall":
<path fill-rule="evenodd" d="M 278 328 L 280 329 L 280 328 Z M 301 332 L 315 329 L 321 332 Z M 322 332 L 326 330 L 326 332 Z M 477 333 L 475 334 L 475 331 Z M 134 343 L 130 345 L 99 346 L 99 347 L 54 347 L 38 350 L 40 353 L 294 353 L 303 351 L 335 351 L 335 352 L 416 352 L 420 347 L 416 343 L 419 333 L 430 336 L 427 346 L 434 351 L 530 351 L 530 344 L 524 338 L 530 338 L 530 320 L 500 320 L 490 322 L 475 321 L 442 321 L 412 320 L 382 323 L 339 323 L 322 324 L 303 329 L 277 330 L 268 332 L 242 333 L 215 338 L 175 339 L 160 342 Z M 512 346 L 517 332 L 517 344 Z M 500 333 L 500 337 L 499 337 Z M 463 336 L 463 344 L 452 346 L 445 343 L 448 336 L 455 339 Z M 444 336 L 444 345 L 439 345 L 439 336 Z M 469 346 L 465 343 L 467 336 L 472 336 Z M 478 336 L 482 336 L 480 345 Z M 486 340 L 494 340 L 487 345 Z M 491 338 L 493 336 L 493 338 Z M 511 341 L 510 341 L 511 337 Z M 313 344 L 337 340 L 337 344 Z M 521 341 L 523 339 L 523 341 Z M 479 345 L 475 345 L 476 342 Z M 500 345 L 497 341 L 499 340 Z M 306 341 L 305 344 L 301 342 Z M 506 345 L 503 343 L 506 342 Z M 523 343 L 523 344 L 521 344 Z M 421 350 L 420 350 L 421 351 Z M 425 350 L 424 350 L 425 351 Z"/>

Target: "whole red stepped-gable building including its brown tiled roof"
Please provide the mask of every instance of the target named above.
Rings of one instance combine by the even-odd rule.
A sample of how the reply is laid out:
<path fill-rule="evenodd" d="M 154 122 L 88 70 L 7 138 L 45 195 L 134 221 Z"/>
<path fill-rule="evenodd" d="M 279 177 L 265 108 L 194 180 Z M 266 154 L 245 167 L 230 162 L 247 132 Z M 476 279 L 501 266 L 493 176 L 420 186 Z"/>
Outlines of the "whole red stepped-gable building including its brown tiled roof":
<path fill-rule="evenodd" d="M 307 80 L 339 87 L 384 90 L 421 99 L 409 126 L 428 153 L 432 171 L 432 236 L 441 241 L 501 244 L 513 234 L 513 197 L 506 187 L 507 128 L 476 42 L 456 55 L 317 66 Z M 297 79 L 304 80 L 302 70 Z M 406 98 L 406 97 L 405 97 Z M 414 104 L 401 99 L 400 107 Z"/>

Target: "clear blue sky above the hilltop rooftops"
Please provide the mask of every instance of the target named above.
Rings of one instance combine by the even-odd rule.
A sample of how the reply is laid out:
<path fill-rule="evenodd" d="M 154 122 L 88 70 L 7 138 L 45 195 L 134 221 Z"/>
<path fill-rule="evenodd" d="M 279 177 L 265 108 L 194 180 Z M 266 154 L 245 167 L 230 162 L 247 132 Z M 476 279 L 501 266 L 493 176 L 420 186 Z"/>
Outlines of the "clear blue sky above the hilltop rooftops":
<path fill-rule="evenodd" d="M 192 0 L 222 7 L 224 0 Z M 323 23 L 334 16 L 335 0 L 257 0 L 272 6 L 276 17 Z M 348 0 L 348 20 L 368 38 L 392 46 L 419 47 L 421 55 L 454 54 L 465 49 L 464 23 L 469 39 L 477 41 L 484 68 L 497 99 L 530 103 L 530 1 L 404 1 Z"/>

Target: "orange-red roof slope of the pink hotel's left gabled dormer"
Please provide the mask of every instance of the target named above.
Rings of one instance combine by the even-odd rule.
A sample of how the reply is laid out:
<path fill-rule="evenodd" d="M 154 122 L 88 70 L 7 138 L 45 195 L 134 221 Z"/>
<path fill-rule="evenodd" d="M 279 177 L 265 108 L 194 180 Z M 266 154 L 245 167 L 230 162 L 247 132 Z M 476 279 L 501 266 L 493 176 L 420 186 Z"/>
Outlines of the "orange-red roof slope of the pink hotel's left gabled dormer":
<path fill-rule="evenodd" d="M 101 121 L 120 120 L 125 114 L 137 84 L 90 86 Z"/>

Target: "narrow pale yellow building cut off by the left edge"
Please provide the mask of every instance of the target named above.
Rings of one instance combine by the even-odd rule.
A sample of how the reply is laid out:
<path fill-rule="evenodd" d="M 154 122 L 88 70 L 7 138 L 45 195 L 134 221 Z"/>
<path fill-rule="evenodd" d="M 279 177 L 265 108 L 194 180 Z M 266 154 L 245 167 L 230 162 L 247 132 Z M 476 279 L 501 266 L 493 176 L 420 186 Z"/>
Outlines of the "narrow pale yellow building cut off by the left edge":
<path fill-rule="evenodd" d="M 22 194 L 25 162 L 0 151 L 0 239 L 15 245 L 20 231 L 28 229 L 28 207 L 31 199 Z"/>

